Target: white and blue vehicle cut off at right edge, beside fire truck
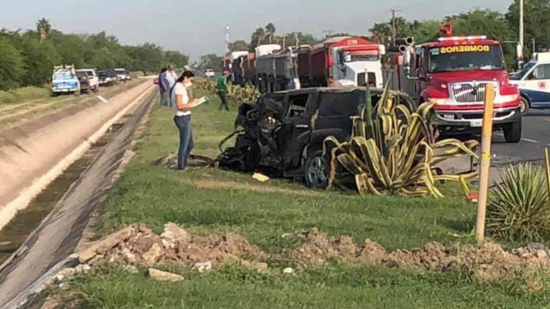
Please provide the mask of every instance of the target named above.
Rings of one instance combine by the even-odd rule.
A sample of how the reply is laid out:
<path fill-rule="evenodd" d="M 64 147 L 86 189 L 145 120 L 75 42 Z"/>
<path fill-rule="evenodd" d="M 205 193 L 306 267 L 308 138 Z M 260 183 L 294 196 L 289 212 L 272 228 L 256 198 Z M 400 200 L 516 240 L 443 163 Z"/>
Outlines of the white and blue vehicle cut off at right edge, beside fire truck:
<path fill-rule="evenodd" d="M 522 114 L 529 108 L 549 109 L 550 52 L 533 53 L 532 59 L 510 76 L 510 83 L 519 87 Z"/>

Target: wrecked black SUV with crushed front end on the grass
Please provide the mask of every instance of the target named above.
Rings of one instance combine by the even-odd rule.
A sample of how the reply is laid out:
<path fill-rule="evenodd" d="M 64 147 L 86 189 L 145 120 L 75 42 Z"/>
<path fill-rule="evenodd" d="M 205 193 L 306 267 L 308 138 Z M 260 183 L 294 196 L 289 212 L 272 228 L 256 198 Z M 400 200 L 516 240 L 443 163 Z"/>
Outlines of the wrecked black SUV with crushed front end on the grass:
<path fill-rule="evenodd" d="M 237 136 L 216 161 L 222 168 L 245 172 L 276 172 L 303 179 L 311 188 L 326 188 L 329 156 L 323 155 L 323 141 L 334 136 L 347 141 L 351 136 L 350 116 L 365 103 L 365 87 L 305 88 L 266 93 L 255 103 L 243 103 L 235 119 L 235 132 L 219 144 Z M 371 89 L 375 104 L 382 89 Z M 401 103 L 414 102 L 400 95 Z M 240 130 L 238 128 L 241 127 Z"/>

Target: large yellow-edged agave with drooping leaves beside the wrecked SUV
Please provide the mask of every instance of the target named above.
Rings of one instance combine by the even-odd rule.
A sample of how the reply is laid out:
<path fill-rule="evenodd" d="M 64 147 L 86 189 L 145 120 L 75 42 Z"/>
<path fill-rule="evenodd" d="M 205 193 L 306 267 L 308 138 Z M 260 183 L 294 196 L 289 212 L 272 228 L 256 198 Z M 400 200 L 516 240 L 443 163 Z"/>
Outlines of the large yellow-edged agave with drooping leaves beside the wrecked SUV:
<path fill-rule="evenodd" d="M 346 182 L 351 175 L 360 194 L 442 197 L 437 181 L 461 181 L 467 188 L 467 179 L 477 175 L 435 175 L 434 166 L 445 159 L 460 155 L 477 158 L 473 149 L 479 143 L 436 141 L 436 128 L 428 121 L 434 103 L 423 103 L 411 113 L 400 104 L 399 93 L 387 86 L 376 109 L 368 86 L 365 102 L 353 119 L 349 141 L 325 139 L 324 151 L 327 142 L 335 145 L 331 150 L 329 187 Z"/>

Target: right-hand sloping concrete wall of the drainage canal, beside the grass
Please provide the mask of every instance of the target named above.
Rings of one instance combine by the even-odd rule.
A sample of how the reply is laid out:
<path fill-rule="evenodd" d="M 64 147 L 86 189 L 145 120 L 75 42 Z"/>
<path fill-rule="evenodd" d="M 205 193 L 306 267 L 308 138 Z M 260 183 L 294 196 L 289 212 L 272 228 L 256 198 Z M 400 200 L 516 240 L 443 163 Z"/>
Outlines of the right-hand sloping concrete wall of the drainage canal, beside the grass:
<path fill-rule="evenodd" d="M 70 265 L 70 255 L 102 197 L 111 188 L 111 179 L 155 93 L 147 89 L 131 117 L 111 123 L 103 138 L 91 143 L 86 154 L 94 158 L 89 159 L 91 164 L 81 161 L 80 166 L 72 170 L 73 174 L 78 173 L 78 178 L 74 182 L 66 179 L 64 188 L 68 190 L 19 249 L 0 266 L 0 308 L 29 305 L 26 304 L 27 297 L 40 291 L 53 274 Z M 79 170 L 83 172 L 79 173 Z M 54 202 L 50 203 L 51 208 Z M 42 214 L 46 212 L 42 210 Z"/>

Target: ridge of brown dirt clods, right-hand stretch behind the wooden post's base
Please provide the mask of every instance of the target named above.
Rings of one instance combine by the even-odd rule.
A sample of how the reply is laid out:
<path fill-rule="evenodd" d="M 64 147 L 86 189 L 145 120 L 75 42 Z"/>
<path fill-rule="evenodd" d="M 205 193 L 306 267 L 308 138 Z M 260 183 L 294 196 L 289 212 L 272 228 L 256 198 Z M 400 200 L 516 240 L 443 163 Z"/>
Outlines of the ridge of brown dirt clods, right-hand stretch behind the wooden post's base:
<path fill-rule="evenodd" d="M 389 267 L 426 271 L 466 269 L 477 279 L 499 279 L 524 269 L 550 269 L 548 249 L 541 244 L 505 251 L 492 242 L 479 247 L 461 244 L 452 248 L 432 242 L 423 248 L 387 252 L 369 239 L 356 246 L 349 236 L 328 237 L 317 228 L 287 237 L 303 238 L 304 244 L 289 252 L 302 267 L 321 265 L 326 261 L 342 261 L 352 265 L 384 263 Z"/>

